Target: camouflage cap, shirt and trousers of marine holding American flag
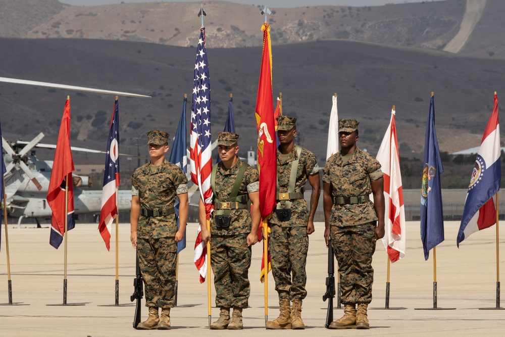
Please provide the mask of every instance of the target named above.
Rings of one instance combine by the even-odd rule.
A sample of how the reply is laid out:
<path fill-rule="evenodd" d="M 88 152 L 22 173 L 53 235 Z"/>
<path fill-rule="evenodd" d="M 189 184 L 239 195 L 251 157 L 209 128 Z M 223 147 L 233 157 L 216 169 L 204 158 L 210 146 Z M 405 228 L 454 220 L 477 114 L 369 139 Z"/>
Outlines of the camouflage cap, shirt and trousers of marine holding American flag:
<path fill-rule="evenodd" d="M 219 145 L 232 146 L 237 142 L 236 138 L 232 143 L 223 142 L 223 134 L 234 135 L 233 137 L 238 138 L 237 134 L 221 132 Z M 215 198 L 217 195 L 221 202 L 229 201 L 238 171 L 242 165 L 247 165 L 240 158 L 237 159 L 237 163 L 230 169 L 226 169 L 222 162 L 216 164 L 213 194 Z M 237 196 L 247 195 L 258 190 L 258 171 L 248 166 Z M 214 272 L 217 307 L 243 309 L 248 306 L 250 294 L 248 272 L 251 263 L 251 248 L 247 246 L 246 238 L 251 231 L 251 226 L 251 216 L 247 208 L 231 210 L 231 223 L 228 228 L 217 227 L 215 218 L 211 218 L 211 267 Z"/>

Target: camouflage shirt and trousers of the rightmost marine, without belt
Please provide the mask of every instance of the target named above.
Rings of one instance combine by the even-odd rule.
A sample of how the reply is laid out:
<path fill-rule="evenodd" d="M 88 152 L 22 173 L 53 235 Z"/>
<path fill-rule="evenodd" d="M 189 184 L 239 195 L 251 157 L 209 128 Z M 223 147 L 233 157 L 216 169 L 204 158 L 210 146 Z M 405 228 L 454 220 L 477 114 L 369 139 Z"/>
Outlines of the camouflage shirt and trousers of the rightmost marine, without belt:
<path fill-rule="evenodd" d="M 382 177 L 380 167 L 377 159 L 358 148 L 347 163 L 337 152 L 326 161 L 323 182 L 331 184 L 333 198 L 369 196 L 370 181 Z M 342 205 L 333 202 L 330 235 L 338 261 L 343 304 L 372 301 L 376 221 L 372 201 Z"/>

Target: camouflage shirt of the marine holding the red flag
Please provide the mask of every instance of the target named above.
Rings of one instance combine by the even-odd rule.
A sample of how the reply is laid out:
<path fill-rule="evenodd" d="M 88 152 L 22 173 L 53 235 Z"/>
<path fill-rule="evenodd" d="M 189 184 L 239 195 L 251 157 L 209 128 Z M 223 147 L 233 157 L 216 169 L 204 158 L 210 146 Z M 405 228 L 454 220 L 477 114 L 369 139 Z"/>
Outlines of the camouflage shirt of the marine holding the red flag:
<path fill-rule="evenodd" d="M 291 162 L 298 159 L 296 153 L 296 144 L 291 151 L 290 157 L 286 161 L 279 159 L 280 151 L 277 149 L 277 179 L 279 181 L 280 192 L 287 192 L 289 186 L 289 175 L 291 173 Z M 319 173 L 319 165 L 316 156 L 307 149 L 302 149 L 298 160 L 298 169 L 296 171 L 296 183 L 294 189 L 305 186 L 309 175 Z M 284 205 L 285 201 L 281 201 Z M 279 221 L 274 214 L 269 223 L 282 227 L 307 227 L 309 222 L 309 208 L 305 199 L 291 200 L 291 219 L 289 221 Z"/>

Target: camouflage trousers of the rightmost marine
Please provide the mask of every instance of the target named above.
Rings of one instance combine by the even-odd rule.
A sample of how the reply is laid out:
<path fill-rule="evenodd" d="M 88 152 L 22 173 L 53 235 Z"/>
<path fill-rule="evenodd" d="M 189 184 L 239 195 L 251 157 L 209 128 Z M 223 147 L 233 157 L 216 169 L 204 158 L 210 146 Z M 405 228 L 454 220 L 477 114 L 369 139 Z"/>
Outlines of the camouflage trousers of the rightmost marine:
<path fill-rule="evenodd" d="M 376 221 L 354 226 L 331 226 L 333 252 L 340 273 L 343 304 L 372 302 Z"/>

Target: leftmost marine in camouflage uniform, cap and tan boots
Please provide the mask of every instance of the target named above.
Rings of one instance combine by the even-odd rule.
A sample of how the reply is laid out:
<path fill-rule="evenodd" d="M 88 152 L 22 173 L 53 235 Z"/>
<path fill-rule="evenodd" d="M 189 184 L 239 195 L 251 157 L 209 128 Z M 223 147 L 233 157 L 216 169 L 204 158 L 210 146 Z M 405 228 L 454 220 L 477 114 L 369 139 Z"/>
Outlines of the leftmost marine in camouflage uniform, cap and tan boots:
<path fill-rule="evenodd" d="M 145 285 L 149 317 L 137 329 L 169 329 L 170 308 L 175 299 L 177 242 L 182 240 L 187 221 L 187 178 L 178 166 L 165 160 L 169 134 L 149 131 L 150 162 L 133 172 L 130 214 L 131 243 L 137 248 Z M 179 229 L 174 212 L 179 198 Z M 161 318 L 158 308 L 162 308 Z"/>

